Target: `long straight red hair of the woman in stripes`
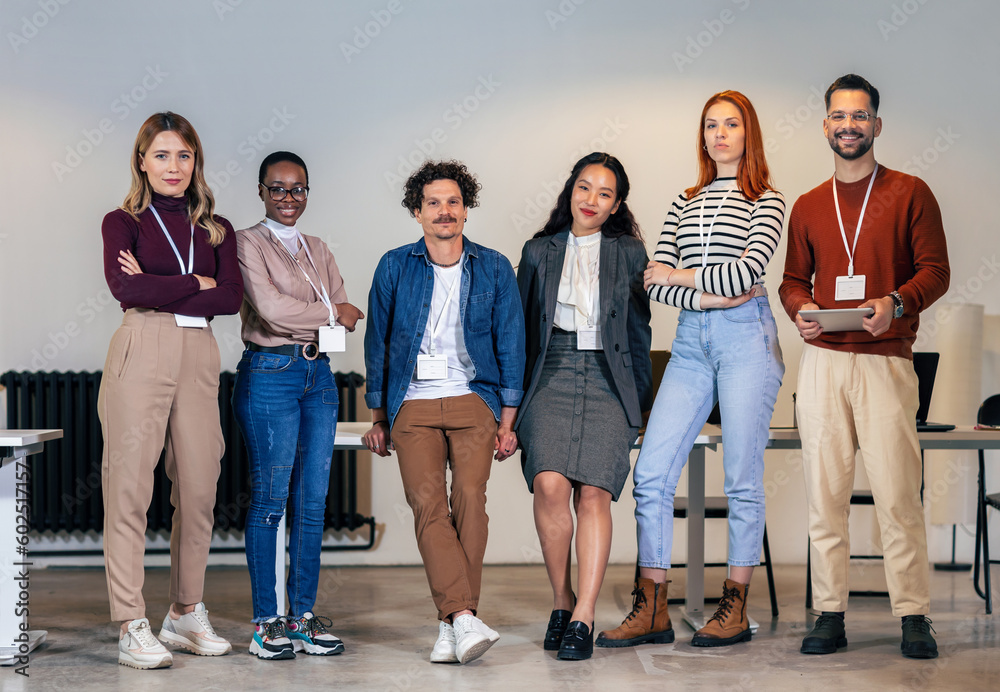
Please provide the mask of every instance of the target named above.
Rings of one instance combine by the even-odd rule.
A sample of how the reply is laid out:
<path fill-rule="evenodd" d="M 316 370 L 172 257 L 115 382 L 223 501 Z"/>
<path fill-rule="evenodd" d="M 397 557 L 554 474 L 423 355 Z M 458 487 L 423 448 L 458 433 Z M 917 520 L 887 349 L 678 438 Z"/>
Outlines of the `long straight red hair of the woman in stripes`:
<path fill-rule="evenodd" d="M 767 169 L 767 159 L 764 157 L 764 137 L 757 121 L 757 111 L 753 109 L 750 99 L 738 91 L 720 91 L 710 98 L 701 109 L 701 120 L 698 122 L 698 182 L 694 187 L 684 191 L 684 196 L 691 199 L 698 192 L 715 180 L 718 169 L 715 161 L 708 155 L 705 148 L 705 116 L 708 109 L 725 101 L 736 106 L 743 117 L 743 158 L 736 170 L 736 185 L 740 192 L 751 202 L 756 202 L 762 194 L 773 189 L 771 173 Z"/>

